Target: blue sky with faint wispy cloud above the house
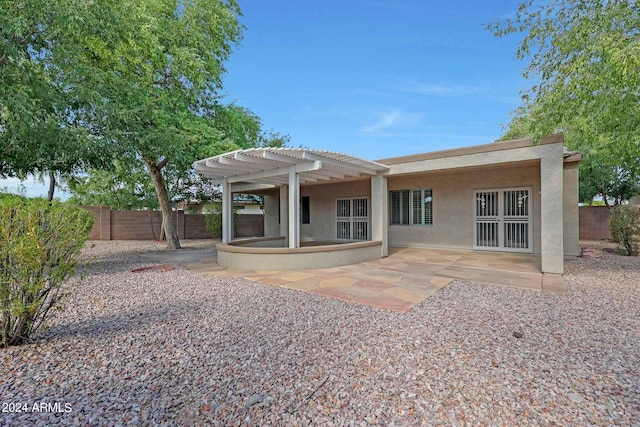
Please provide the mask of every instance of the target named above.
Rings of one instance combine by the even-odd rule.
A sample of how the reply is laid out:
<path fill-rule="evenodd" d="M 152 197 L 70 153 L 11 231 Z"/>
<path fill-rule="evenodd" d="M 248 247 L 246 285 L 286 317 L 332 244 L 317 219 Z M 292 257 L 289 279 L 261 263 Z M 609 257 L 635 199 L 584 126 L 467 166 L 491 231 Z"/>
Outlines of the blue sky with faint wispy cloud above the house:
<path fill-rule="evenodd" d="M 493 142 L 527 84 L 517 37 L 484 29 L 517 1 L 239 1 L 246 30 L 223 102 L 294 147 L 376 160 Z"/>

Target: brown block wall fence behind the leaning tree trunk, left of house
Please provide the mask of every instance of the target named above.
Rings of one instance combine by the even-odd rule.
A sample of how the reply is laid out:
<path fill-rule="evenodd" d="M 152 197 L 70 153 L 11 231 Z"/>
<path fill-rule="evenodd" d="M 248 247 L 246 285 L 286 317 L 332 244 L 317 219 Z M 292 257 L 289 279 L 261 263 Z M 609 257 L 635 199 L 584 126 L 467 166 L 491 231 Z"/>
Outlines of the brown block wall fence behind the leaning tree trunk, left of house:
<path fill-rule="evenodd" d="M 80 206 L 93 214 L 90 240 L 159 240 L 160 211 L 117 211 L 109 206 Z M 204 215 L 174 211 L 173 220 L 180 239 L 215 239 L 205 226 Z M 264 236 L 263 215 L 238 215 L 236 237 Z"/>

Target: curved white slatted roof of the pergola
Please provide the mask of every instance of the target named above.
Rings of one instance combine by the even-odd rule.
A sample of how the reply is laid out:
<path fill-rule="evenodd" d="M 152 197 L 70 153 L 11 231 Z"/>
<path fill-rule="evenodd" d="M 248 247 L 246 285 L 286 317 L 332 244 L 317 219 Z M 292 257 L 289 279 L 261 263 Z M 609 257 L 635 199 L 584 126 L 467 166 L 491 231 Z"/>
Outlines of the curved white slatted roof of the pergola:
<path fill-rule="evenodd" d="M 300 183 L 322 183 L 373 176 L 388 166 L 332 151 L 304 148 L 248 148 L 201 159 L 193 168 L 214 183 L 281 185 L 295 171 Z"/>

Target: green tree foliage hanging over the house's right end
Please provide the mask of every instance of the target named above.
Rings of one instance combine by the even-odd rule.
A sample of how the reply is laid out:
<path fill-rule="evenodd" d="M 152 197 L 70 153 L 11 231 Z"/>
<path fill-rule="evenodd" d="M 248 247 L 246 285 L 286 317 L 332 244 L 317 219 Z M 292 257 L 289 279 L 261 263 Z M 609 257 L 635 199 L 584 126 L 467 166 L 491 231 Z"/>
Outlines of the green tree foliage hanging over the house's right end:
<path fill-rule="evenodd" d="M 505 138 L 561 131 L 585 154 L 583 199 L 625 198 L 626 190 L 606 187 L 640 183 L 640 2 L 530 0 L 488 28 L 498 37 L 523 34 L 516 54 L 535 81 Z"/>

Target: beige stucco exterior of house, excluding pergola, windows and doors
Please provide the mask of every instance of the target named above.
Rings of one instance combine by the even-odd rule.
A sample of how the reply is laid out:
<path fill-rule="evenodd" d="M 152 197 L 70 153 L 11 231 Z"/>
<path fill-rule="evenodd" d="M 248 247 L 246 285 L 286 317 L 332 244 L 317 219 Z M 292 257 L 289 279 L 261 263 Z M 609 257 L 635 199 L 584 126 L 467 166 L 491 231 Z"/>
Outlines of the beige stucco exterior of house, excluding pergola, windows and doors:
<path fill-rule="evenodd" d="M 389 225 L 388 201 L 375 206 L 370 202 L 370 217 L 375 218 L 377 213 L 388 227 L 382 233 L 378 230 L 377 234 L 384 237 L 388 232 L 388 242 L 392 246 L 472 249 L 474 190 L 530 187 L 533 252 L 542 254 L 545 273 L 561 274 L 562 254 L 577 255 L 579 247 L 577 163 L 562 163 L 560 142 L 433 159 L 418 156 L 405 162 L 390 162 L 390 169 L 385 174 L 387 191 L 431 188 L 434 224 Z M 378 182 L 375 187 L 383 188 L 380 184 Z M 546 189 L 544 195 L 541 195 L 542 187 Z M 266 236 L 282 235 L 277 214 L 279 194 L 275 190 L 265 197 Z M 311 224 L 301 225 L 301 238 L 333 241 L 336 199 L 369 197 L 371 200 L 371 180 L 307 185 L 301 187 L 300 195 L 310 197 L 311 208 Z M 375 199 L 381 199 L 380 195 Z M 372 221 L 372 228 L 378 222 Z"/>

